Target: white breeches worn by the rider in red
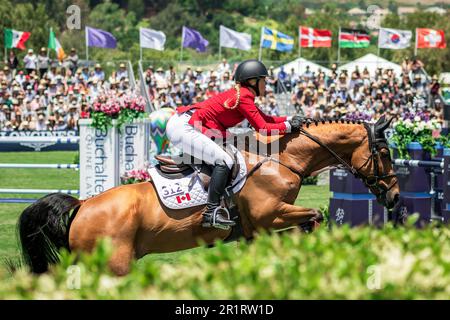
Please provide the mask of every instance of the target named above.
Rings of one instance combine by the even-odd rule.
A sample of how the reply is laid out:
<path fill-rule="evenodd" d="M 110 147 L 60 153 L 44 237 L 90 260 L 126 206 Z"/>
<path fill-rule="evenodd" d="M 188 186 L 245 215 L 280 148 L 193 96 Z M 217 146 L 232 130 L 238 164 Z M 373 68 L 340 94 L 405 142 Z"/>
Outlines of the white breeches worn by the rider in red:
<path fill-rule="evenodd" d="M 188 123 L 190 115 L 174 114 L 166 126 L 166 135 L 170 142 L 183 154 L 205 161 L 211 165 L 225 163 L 228 168 L 233 166 L 233 159 L 214 141 L 205 136 Z"/>

